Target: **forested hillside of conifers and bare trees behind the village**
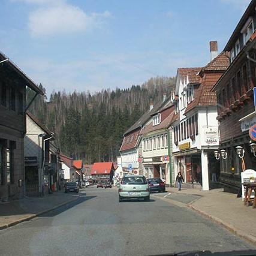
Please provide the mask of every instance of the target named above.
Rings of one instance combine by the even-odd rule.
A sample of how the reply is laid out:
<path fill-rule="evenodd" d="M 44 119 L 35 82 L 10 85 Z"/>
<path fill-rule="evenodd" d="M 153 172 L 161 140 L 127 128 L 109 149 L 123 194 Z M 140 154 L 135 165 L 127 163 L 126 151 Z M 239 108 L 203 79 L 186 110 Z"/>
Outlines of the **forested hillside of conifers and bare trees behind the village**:
<path fill-rule="evenodd" d="M 141 86 L 95 94 L 52 92 L 49 99 L 37 96 L 29 111 L 55 132 L 62 153 L 88 164 L 115 161 L 124 132 L 149 108 L 150 100 L 162 101 L 173 87 L 174 77 L 155 77 Z M 32 97 L 28 89 L 28 100 Z"/>

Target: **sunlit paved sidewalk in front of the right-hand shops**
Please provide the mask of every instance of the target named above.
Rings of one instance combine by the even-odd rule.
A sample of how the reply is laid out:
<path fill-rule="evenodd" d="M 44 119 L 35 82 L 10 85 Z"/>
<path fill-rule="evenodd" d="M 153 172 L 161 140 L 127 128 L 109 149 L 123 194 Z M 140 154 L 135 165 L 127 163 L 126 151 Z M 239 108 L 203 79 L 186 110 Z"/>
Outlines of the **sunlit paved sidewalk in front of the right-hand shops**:
<path fill-rule="evenodd" d="M 166 191 L 171 194 L 164 199 L 171 197 L 172 201 L 190 207 L 256 245 L 256 209 L 243 206 L 242 198 L 237 198 L 236 194 L 224 192 L 221 188 L 210 191 L 166 188 Z"/>

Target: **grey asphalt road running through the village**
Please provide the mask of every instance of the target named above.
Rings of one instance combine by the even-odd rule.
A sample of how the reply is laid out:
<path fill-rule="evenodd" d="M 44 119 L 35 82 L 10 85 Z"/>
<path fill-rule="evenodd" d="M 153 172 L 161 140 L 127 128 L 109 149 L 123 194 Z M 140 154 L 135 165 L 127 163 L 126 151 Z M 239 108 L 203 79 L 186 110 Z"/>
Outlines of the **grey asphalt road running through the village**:
<path fill-rule="evenodd" d="M 32 207 L 32 206 L 31 206 Z M 118 202 L 87 188 L 76 202 L 0 231 L 0 255 L 159 255 L 255 249 L 186 207 L 158 198 Z"/>

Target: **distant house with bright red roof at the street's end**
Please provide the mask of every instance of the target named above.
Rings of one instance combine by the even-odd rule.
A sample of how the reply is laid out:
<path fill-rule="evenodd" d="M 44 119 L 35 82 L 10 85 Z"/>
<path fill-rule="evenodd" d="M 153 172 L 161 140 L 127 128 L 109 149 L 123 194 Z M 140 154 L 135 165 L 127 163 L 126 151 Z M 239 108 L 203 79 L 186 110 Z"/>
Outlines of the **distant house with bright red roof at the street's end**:
<path fill-rule="evenodd" d="M 114 173 L 115 167 L 113 162 L 95 162 L 94 165 L 92 165 L 92 179 L 109 180 L 113 183 Z"/>

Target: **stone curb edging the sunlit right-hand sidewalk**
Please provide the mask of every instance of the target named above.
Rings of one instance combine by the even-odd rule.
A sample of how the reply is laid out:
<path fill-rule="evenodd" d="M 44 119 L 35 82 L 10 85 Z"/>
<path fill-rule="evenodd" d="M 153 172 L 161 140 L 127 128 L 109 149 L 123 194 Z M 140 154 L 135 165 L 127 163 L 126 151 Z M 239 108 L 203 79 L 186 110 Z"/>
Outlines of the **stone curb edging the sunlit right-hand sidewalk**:
<path fill-rule="evenodd" d="M 213 222 L 222 225 L 222 227 L 226 228 L 228 231 L 231 231 L 231 233 L 236 234 L 236 236 L 239 236 L 242 239 L 247 240 L 248 242 L 252 243 L 253 245 L 256 245 L 256 237 L 251 236 L 249 234 L 246 234 L 245 232 L 238 230 L 237 228 L 233 227 L 232 225 L 228 224 L 225 221 L 222 221 L 221 219 L 210 215 L 209 213 L 204 212 L 203 210 L 198 209 L 197 207 L 192 206 L 191 204 L 187 205 L 189 208 L 194 210 L 195 212 L 200 213 L 200 215 L 212 220 Z"/>

